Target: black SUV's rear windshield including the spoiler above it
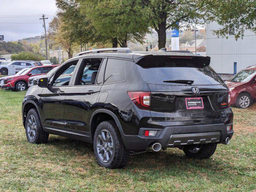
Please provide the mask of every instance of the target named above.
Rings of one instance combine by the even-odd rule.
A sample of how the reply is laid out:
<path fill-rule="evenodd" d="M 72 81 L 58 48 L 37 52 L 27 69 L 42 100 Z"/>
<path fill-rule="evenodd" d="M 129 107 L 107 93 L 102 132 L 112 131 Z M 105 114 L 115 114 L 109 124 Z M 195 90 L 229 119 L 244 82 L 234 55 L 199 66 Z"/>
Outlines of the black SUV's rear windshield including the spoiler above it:
<path fill-rule="evenodd" d="M 209 66 L 209 58 L 145 57 L 137 63 L 145 82 L 164 85 L 214 85 L 223 80 Z"/>

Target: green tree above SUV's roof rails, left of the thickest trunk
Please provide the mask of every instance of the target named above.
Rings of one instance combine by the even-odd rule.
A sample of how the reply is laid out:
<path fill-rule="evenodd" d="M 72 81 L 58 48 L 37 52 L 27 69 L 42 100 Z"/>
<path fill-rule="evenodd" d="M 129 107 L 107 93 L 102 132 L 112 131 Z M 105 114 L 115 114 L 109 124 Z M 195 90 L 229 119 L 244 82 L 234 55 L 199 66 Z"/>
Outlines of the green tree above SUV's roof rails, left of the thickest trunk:
<path fill-rule="evenodd" d="M 127 47 L 127 41 L 143 43 L 149 32 L 147 18 L 136 0 L 80 0 L 81 11 L 103 39 L 110 40 L 113 47 Z"/>

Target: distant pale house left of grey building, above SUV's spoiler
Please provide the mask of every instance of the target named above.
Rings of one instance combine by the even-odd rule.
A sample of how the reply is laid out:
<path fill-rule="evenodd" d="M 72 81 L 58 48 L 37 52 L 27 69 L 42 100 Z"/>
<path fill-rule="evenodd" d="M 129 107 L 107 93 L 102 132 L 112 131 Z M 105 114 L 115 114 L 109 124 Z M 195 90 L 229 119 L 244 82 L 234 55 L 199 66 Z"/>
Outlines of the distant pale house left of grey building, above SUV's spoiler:
<path fill-rule="evenodd" d="M 179 50 L 189 50 L 191 52 L 206 52 L 206 39 L 187 41 L 179 46 Z"/>

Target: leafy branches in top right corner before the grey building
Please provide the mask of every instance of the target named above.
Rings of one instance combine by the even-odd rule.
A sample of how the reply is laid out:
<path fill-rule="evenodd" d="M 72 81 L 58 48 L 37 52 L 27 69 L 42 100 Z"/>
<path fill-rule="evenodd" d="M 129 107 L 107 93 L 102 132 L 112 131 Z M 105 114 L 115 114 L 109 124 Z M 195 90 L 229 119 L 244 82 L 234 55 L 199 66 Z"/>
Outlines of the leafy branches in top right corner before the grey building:
<path fill-rule="evenodd" d="M 213 30 L 217 36 L 227 36 L 234 32 L 236 40 L 244 36 L 245 30 L 256 32 L 255 0 L 209 0 L 208 20 L 216 21 L 222 28 Z"/>

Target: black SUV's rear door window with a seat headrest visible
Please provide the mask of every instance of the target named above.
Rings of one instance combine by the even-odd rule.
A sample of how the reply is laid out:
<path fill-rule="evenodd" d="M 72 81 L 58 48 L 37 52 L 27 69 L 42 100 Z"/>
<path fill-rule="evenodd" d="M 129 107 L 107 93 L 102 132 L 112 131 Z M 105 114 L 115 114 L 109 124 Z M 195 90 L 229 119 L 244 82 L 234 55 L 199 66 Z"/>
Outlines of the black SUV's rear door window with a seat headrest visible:
<path fill-rule="evenodd" d="M 75 85 L 94 85 L 101 61 L 102 58 L 83 60 Z"/>

